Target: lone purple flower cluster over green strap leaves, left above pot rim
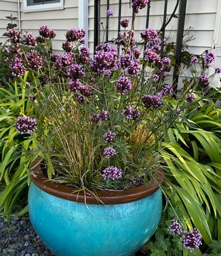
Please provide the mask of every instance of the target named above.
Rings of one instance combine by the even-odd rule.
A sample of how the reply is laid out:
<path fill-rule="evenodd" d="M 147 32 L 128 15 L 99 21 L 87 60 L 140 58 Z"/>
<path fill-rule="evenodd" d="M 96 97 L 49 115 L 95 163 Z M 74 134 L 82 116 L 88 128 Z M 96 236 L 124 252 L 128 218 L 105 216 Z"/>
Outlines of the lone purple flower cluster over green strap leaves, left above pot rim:
<path fill-rule="evenodd" d="M 16 129 L 20 133 L 31 133 L 37 130 L 37 121 L 30 116 L 18 116 Z"/>

